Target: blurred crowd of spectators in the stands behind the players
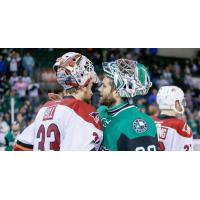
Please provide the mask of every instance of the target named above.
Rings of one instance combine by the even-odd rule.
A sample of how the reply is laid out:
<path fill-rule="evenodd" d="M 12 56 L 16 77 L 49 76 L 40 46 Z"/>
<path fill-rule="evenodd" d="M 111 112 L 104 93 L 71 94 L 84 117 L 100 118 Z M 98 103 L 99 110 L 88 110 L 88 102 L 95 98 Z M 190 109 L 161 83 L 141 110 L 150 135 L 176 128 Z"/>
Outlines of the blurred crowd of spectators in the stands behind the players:
<path fill-rule="evenodd" d="M 41 83 L 34 72 L 42 67 L 40 52 L 52 63 L 57 49 L 0 49 L 0 149 L 12 150 L 20 132 L 35 118 L 40 106 L 48 99 L 41 91 Z M 118 58 L 137 60 L 148 66 L 153 86 L 145 97 L 137 97 L 135 104 L 149 115 L 158 115 L 156 94 L 161 86 L 176 85 L 185 92 L 187 108 L 183 116 L 190 125 L 194 138 L 200 138 L 200 54 L 194 59 L 174 59 L 157 56 L 158 49 L 59 49 L 65 53 L 76 51 L 86 55 L 94 63 L 102 79 L 102 62 Z M 52 55 L 55 58 L 52 58 Z M 99 106 L 98 85 L 93 88 L 92 104 Z M 14 100 L 14 101 L 13 101 Z M 11 102 L 14 102 L 14 120 L 11 117 Z"/>

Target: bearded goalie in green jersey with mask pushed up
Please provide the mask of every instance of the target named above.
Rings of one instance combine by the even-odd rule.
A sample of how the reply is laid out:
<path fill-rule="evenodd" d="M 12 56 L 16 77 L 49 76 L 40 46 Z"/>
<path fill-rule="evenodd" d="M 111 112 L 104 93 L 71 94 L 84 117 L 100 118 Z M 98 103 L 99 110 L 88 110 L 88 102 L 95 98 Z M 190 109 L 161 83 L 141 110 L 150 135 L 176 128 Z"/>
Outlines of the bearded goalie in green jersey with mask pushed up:
<path fill-rule="evenodd" d="M 152 83 L 146 68 L 136 61 L 119 59 L 103 63 L 105 78 L 99 88 L 98 111 L 103 125 L 102 147 L 119 151 L 155 151 L 154 121 L 133 105 L 133 97 L 147 94 Z"/>

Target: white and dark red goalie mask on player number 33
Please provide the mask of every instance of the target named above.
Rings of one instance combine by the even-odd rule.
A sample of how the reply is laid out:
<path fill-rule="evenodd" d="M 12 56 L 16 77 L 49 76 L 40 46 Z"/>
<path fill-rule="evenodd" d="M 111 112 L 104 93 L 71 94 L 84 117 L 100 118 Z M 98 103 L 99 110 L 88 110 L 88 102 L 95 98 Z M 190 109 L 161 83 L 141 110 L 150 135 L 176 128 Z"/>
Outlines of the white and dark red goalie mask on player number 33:
<path fill-rule="evenodd" d="M 98 81 L 92 62 L 85 56 L 69 52 L 56 60 L 53 66 L 57 81 L 65 90 L 84 87 L 90 80 Z"/>

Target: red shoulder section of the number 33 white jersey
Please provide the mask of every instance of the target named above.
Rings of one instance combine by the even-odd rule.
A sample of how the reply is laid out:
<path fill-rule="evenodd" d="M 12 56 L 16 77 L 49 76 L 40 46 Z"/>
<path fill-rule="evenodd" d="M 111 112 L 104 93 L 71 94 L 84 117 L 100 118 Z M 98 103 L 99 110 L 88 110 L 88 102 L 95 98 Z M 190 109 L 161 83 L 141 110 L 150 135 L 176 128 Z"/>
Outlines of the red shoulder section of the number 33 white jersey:
<path fill-rule="evenodd" d="M 50 107 L 55 105 L 62 105 L 71 108 L 79 117 L 85 121 L 92 123 L 96 128 L 102 130 L 99 113 L 96 109 L 83 101 L 75 98 L 62 99 L 60 101 L 49 101 L 43 107 Z"/>

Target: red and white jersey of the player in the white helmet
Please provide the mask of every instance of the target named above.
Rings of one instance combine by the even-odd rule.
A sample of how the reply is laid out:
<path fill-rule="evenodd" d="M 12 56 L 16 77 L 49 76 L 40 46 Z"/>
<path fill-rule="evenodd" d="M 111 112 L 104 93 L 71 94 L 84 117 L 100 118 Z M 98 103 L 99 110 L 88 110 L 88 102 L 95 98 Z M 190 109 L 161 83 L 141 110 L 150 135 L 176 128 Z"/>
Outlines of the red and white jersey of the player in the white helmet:
<path fill-rule="evenodd" d="M 157 127 L 160 151 L 192 150 L 192 131 L 183 120 L 166 115 L 153 117 L 153 119 Z"/>

